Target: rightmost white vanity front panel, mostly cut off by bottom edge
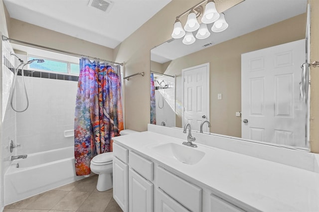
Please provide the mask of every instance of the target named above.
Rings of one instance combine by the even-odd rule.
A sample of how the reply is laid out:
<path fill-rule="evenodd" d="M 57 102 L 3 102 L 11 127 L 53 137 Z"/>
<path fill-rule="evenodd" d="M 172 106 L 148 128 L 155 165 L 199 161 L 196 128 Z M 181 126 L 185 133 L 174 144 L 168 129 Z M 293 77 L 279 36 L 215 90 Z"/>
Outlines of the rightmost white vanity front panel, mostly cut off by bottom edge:
<path fill-rule="evenodd" d="M 211 194 L 210 195 L 210 211 L 211 212 L 244 212 L 240 208 L 226 202 L 223 199 Z"/>

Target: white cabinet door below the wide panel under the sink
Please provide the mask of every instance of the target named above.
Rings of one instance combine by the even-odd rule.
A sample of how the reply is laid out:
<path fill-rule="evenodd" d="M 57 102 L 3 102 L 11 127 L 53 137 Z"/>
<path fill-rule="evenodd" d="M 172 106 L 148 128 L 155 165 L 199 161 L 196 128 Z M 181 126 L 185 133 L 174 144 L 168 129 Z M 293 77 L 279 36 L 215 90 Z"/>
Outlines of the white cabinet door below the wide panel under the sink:
<path fill-rule="evenodd" d="M 156 212 L 189 212 L 182 205 L 166 195 L 160 188 L 158 188 L 156 192 Z"/>

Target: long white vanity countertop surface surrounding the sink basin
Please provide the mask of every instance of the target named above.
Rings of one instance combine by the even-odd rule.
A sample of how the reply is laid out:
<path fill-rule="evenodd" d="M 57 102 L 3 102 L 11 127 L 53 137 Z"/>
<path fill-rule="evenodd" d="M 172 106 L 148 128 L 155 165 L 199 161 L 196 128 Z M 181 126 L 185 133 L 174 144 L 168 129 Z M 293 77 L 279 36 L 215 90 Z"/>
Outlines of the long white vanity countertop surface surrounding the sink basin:
<path fill-rule="evenodd" d="M 152 146 L 182 139 L 146 131 L 113 140 L 185 175 L 208 189 L 260 211 L 319 212 L 319 173 L 198 144 L 204 157 L 194 165 L 157 153 Z M 189 147 L 192 148 L 192 147 Z"/>

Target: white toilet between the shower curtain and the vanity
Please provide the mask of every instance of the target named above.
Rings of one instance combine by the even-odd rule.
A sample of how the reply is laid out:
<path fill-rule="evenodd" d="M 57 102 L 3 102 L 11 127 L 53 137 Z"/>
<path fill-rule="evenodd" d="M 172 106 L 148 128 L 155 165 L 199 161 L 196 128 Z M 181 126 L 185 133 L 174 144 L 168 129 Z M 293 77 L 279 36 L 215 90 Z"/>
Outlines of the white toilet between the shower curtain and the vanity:
<path fill-rule="evenodd" d="M 120 132 L 120 135 L 128 135 L 136 133 L 131 129 L 124 129 Z M 98 184 L 96 189 L 99 192 L 104 192 L 113 188 L 113 152 L 105 152 L 92 158 L 90 163 L 90 169 L 93 173 L 98 174 Z"/>

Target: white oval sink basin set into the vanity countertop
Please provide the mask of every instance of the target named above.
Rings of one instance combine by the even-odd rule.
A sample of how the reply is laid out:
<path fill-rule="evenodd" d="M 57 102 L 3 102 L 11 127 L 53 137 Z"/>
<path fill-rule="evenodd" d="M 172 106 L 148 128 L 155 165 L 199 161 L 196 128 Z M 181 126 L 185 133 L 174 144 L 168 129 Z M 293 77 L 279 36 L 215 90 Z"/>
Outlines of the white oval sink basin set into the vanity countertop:
<path fill-rule="evenodd" d="M 205 155 L 205 152 L 193 147 L 176 143 L 163 143 L 157 146 L 152 146 L 151 149 L 155 150 L 160 155 L 173 158 L 179 162 L 189 165 L 198 163 Z"/>

